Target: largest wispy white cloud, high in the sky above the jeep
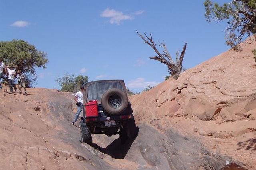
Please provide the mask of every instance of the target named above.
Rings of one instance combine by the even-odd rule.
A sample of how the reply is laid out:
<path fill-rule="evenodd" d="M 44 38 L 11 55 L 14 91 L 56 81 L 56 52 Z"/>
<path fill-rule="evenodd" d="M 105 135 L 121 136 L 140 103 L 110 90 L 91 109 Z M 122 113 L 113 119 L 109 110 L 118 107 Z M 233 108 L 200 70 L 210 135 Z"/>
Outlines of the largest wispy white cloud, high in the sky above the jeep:
<path fill-rule="evenodd" d="M 120 25 L 120 22 L 122 20 L 132 20 L 134 18 L 134 15 L 140 15 L 144 11 L 136 11 L 133 14 L 124 14 L 122 11 L 116 11 L 114 9 L 106 8 L 100 16 L 103 18 L 110 18 L 110 23 L 115 23 L 116 25 Z"/>

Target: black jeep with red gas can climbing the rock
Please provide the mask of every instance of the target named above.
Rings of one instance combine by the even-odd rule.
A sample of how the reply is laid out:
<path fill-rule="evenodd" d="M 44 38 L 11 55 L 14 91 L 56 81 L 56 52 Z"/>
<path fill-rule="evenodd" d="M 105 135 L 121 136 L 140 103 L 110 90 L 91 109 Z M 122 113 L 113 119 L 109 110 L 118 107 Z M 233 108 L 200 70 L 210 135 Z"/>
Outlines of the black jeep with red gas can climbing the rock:
<path fill-rule="evenodd" d="M 84 85 L 80 141 L 92 144 L 91 134 L 119 134 L 121 142 L 137 135 L 124 80 L 99 80 Z"/>

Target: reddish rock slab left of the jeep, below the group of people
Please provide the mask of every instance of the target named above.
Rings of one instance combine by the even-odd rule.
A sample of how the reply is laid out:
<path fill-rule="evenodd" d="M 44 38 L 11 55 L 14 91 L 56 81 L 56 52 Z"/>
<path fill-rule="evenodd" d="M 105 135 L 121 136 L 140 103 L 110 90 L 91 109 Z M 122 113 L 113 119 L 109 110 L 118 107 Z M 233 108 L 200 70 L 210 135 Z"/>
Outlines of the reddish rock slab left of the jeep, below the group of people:
<path fill-rule="evenodd" d="M 81 145 L 79 129 L 70 123 L 72 94 L 28 93 L 0 93 L 0 169 L 117 169 Z"/>

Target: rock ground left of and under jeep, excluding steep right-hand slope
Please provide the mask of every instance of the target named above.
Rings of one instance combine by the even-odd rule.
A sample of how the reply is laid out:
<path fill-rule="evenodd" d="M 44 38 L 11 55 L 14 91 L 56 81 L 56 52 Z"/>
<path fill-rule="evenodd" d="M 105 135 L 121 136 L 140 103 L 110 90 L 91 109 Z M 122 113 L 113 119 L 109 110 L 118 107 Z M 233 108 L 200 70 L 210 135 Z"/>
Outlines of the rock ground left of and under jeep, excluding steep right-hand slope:
<path fill-rule="evenodd" d="M 1 92 L 0 167 L 7 170 L 194 170 L 234 163 L 198 137 L 172 127 L 161 132 L 146 121 L 137 123 L 138 136 L 125 144 L 118 135 L 93 135 L 92 146 L 81 144 L 80 129 L 70 123 L 72 94 L 40 88 L 28 89 L 29 96 Z"/>

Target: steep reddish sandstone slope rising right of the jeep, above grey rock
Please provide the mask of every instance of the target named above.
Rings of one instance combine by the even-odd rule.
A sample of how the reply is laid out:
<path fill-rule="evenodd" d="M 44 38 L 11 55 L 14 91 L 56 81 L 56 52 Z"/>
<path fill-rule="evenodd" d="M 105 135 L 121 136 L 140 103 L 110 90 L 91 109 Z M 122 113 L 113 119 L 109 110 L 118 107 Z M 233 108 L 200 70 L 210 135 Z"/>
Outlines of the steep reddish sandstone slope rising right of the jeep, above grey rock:
<path fill-rule="evenodd" d="M 213 152 L 256 169 L 256 64 L 247 44 L 226 51 L 148 92 L 131 96 L 138 122 L 199 137 Z"/>

